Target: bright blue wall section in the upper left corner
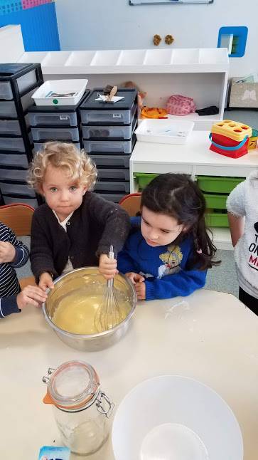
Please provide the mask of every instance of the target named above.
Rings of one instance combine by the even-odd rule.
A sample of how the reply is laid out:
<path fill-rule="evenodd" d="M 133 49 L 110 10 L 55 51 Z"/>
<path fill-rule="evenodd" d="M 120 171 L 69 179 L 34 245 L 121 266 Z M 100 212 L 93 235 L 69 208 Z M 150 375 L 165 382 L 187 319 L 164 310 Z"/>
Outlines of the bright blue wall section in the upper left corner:
<path fill-rule="evenodd" d="M 55 2 L 0 16 L 0 27 L 21 24 L 25 51 L 60 51 Z"/>

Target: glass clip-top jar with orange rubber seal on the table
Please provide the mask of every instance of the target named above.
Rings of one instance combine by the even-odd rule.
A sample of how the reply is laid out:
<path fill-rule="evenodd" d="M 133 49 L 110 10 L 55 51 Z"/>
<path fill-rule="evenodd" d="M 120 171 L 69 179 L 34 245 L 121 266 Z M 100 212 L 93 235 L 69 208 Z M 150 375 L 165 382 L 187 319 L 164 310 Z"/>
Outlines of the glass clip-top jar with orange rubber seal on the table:
<path fill-rule="evenodd" d="M 107 419 L 114 409 L 95 369 L 87 362 L 68 361 L 48 369 L 43 382 L 48 384 L 43 402 L 53 404 L 63 444 L 74 454 L 94 454 L 107 440 Z"/>

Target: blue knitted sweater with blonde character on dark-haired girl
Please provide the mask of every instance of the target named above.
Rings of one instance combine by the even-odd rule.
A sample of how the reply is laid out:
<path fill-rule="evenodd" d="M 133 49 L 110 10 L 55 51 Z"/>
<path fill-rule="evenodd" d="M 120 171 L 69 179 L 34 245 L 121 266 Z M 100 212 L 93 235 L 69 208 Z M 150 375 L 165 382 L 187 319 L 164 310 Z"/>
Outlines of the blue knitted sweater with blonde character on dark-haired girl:
<path fill-rule="evenodd" d="M 134 271 L 145 278 L 146 300 L 189 296 L 205 285 L 207 271 L 186 270 L 193 253 L 193 241 L 184 239 L 179 246 L 152 247 L 141 231 L 129 236 L 119 252 L 117 268 L 121 273 Z"/>

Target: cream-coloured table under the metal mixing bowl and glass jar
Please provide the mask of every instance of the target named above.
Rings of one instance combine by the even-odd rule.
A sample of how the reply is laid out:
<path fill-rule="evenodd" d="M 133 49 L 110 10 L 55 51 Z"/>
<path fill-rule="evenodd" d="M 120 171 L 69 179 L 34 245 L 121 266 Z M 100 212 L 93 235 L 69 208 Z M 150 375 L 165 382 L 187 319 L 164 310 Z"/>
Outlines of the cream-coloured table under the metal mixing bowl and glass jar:
<path fill-rule="evenodd" d="M 181 300 L 188 304 L 176 306 Z M 237 298 L 203 289 L 184 299 L 141 301 L 127 335 L 101 352 L 72 350 L 30 306 L 1 320 L 0 330 L 1 459 L 37 460 L 41 446 L 60 445 L 41 379 L 48 367 L 85 360 L 116 408 L 132 387 L 156 375 L 210 386 L 237 417 L 244 460 L 257 460 L 258 318 Z M 87 459 L 113 460 L 110 438 Z"/>

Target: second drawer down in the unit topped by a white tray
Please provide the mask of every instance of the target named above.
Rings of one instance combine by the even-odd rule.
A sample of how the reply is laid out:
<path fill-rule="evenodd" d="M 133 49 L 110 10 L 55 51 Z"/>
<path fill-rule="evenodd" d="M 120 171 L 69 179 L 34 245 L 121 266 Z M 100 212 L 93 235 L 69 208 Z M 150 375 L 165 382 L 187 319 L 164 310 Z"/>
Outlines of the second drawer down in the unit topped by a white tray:
<path fill-rule="evenodd" d="M 80 134 L 77 127 L 32 127 L 33 140 L 73 140 L 79 141 Z"/>

